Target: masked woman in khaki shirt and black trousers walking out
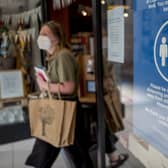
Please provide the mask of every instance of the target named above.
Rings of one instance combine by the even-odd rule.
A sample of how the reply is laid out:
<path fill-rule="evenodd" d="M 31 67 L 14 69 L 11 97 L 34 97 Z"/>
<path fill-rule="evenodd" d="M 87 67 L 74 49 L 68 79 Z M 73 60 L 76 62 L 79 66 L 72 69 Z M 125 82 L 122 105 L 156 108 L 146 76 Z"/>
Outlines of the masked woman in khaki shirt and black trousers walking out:
<path fill-rule="evenodd" d="M 48 84 L 37 75 L 37 83 L 41 91 L 48 88 L 52 94 L 67 96 L 70 100 L 77 100 L 78 67 L 75 58 L 68 49 L 61 26 L 50 21 L 41 28 L 38 37 L 40 49 L 47 52 Z M 77 110 L 75 142 L 65 150 L 71 154 L 76 168 L 92 168 L 92 162 L 85 147 L 85 137 L 82 134 L 82 117 Z M 26 161 L 26 165 L 36 168 L 50 168 L 60 152 L 60 148 L 36 139 L 33 151 Z"/>

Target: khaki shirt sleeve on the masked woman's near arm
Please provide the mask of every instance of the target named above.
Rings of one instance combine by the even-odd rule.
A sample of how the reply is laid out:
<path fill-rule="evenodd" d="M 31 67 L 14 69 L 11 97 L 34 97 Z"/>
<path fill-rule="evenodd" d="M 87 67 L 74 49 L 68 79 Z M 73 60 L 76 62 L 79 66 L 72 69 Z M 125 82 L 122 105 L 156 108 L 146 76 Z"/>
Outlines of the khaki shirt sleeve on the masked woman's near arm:
<path fill-rule="evenodd" d="M 72 57 L 73 56 L 71 56 L 71 53 L 69 52 L 63 52 L 59 55 L 57 72 L 60 83 L 67 81 L 75 82 L 75 60 L 73 60 Z"/>

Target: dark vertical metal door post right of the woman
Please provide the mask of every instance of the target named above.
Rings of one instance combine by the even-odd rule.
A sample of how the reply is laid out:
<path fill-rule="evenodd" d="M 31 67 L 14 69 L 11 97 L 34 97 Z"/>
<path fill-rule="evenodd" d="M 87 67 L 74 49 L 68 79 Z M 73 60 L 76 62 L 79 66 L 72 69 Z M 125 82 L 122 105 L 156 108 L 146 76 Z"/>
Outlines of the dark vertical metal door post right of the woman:
<path fill-rule="evenodd" d="M 102 56 L 102 19 L 101 1 L 92 0 L 93 7 L 93 31 L 94 31 L 94 53 L 95 53 L 95 75 L 96 75 L 96 100 L 98 113 L 98 168 L 105 168 L 105 117 L 103 97 L 103 56 Z"/>

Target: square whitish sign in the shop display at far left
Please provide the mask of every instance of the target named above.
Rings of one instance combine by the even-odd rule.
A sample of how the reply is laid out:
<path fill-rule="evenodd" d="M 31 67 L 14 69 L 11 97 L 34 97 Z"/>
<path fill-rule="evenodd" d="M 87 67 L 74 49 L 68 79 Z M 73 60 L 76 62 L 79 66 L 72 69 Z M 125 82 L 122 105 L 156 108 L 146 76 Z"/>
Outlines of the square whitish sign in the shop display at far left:
<path fill-rule="evenodd" d="M 23 78 L 19 70 L 0 72 L 0 98 L 23 97 Z"/>

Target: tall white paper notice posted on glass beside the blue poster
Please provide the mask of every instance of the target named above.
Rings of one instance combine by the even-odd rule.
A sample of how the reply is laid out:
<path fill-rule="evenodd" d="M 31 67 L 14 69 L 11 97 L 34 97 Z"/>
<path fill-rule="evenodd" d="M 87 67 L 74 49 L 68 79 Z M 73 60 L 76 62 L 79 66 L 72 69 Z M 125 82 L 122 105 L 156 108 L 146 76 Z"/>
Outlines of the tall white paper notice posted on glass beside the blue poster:
<path fill-rule="evenodd" d="M 124 8 L 108 10 L 108 60 L 124 63 Z"/>

